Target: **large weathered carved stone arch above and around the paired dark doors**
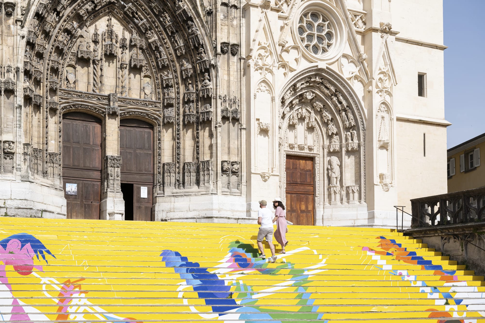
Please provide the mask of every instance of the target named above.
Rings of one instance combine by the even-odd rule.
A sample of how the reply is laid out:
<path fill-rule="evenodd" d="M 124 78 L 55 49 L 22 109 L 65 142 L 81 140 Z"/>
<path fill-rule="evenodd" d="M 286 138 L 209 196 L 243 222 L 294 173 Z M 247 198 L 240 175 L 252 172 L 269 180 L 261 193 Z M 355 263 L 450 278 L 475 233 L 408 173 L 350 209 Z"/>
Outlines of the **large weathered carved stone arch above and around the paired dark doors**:
<path fill-rule="evenodd" d="M 62 154 L 62 113 L 75 107 L 100 116 L 152 120 L 158 166 L 155 187 L 163 191 L 162 163 L 174 165 L 168 168 L 174 174 L 165 187 L 183 187 L 184 164 L 202 159 L 200 128 L 213 120 L 207 108 L 201 111 L 201 107 L 213 106 L 213 70 L 209 65 L 213 48 L 188 6 L 176 2 L 41 1 L 32 8 L 33 18 L 26 25 L 21 91 L 31 98 L 25 101 L 25 109 L 39 110 L 39 122 L 45 125 L 39 129 L 39 140 L 29 143 L 43 151 L 39 161 L 42 170 L 32 177 L 61 177 L 62 168 L 49 166 L 48 161 L 52 154 Z M 181 150 L 184 128 L 196 133 L 192 155 Z M 52 145 L 51 134 L 56 132 L 59 136 L 54 136 L 56 143 Z M 165 147 L 171 146 L 163 158 L 162 138 L 170 142 Z M 200 182 L 200 167 L 191 166 L 196 173 L 188 186 Z M 207 174 L 205 185 L 212 182 Z"/>

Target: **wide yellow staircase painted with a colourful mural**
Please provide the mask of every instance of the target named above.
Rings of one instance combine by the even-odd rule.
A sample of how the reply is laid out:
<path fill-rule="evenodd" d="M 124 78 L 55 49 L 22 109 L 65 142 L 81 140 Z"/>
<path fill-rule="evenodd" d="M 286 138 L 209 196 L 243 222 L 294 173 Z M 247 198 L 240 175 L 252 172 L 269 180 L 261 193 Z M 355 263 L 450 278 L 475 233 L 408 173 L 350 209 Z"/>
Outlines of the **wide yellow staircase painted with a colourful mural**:
<path fill-rule="evenodd" d="M 485 323 L 484 277 L 419 240 L 290 226 L 269 263 L 257 228 L 0 217 L 0 322 Z"/>

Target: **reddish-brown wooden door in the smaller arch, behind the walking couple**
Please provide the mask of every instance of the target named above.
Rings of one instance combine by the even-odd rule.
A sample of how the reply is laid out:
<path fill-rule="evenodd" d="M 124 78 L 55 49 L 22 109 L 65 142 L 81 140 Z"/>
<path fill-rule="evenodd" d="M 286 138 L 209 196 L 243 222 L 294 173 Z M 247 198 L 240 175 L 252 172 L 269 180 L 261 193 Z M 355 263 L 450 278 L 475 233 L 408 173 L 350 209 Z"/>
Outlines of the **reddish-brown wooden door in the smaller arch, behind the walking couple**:
<path fill-rule="evenodd" d="M 286 217 L 300 226 L 313 226 L 313 158 L 286 156 Z"/>

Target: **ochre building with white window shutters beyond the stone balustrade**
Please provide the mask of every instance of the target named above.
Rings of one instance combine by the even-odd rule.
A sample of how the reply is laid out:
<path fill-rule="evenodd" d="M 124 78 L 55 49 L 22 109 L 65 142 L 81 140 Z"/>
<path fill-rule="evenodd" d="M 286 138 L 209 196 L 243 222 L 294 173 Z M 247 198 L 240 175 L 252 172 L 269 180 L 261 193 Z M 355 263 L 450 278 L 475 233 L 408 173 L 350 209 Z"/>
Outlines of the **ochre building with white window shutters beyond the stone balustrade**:
<path fill-rule="evenodd" d="M 448 193 L 485 186 L 480 151 L 485 151 L 485 133 L 448 149 Z"/>

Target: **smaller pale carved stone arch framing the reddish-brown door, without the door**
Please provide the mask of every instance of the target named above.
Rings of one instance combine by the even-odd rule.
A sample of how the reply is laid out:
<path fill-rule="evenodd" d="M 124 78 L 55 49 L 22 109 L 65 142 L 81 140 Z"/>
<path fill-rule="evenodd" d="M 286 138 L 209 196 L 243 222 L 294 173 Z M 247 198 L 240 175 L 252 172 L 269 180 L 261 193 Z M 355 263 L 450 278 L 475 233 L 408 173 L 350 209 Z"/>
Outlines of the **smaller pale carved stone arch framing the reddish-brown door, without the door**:
<path fill-rule="evenodd" d="M 286 154 L 314 157 L 316 210 L 325 205 L 364 203 L 365 120 L 352 87 L 329 68 L 311 67 L 293 77 L 281 93 L 281 173 L 285 173 Z M 309 144 L 311 131 L 314 145 Z M 333 178 L 329 168 L 332 172 L 338 168 L 341 176 Z M 285 196 L 285 176 L 280 180 Z"/>

